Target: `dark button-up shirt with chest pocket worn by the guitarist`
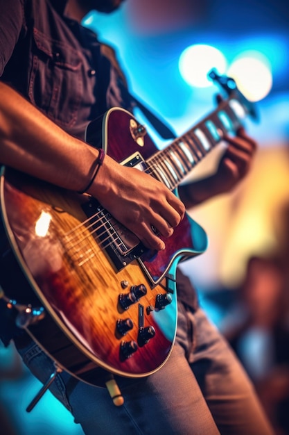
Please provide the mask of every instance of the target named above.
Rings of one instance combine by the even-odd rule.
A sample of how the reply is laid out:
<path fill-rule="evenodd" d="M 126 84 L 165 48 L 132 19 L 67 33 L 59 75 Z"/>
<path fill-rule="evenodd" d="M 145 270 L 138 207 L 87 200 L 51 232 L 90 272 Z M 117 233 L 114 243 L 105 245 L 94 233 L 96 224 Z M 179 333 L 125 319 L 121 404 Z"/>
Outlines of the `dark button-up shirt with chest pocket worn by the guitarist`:
<path fill-rule="evenodd" d="M 114 50 L 64 17 L 64 0 L 0 0 L 0 79 L 84 138 L 112 106 L 132 110 Z"/>

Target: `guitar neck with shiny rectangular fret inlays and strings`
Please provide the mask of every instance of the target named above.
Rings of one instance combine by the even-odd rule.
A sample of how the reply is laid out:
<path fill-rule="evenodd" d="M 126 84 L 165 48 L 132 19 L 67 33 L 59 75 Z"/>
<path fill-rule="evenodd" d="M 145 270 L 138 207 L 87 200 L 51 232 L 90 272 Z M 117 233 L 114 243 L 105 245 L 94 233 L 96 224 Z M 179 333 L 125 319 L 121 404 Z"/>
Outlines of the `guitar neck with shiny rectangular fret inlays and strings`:
<path fill-rule="evenodd" d="M 148 159 L 150 174 L 170 190 L 175 189 L 225 134 L 236 133 L 248 114 L 244 99 L 238 93 L 222 101 L 192 129 Z"/>

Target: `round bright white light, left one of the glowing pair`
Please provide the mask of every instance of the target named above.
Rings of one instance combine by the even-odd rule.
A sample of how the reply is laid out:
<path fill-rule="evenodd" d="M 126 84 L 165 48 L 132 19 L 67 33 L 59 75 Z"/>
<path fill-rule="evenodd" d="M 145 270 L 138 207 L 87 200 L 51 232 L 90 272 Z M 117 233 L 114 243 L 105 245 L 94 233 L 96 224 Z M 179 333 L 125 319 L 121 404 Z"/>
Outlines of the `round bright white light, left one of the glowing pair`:
<path fill-rule="evenodd" d="M 220 74 L 225 73 L 227 60 L 220 50 L 211 45 L 191 45 L 184 49 L 179 57 L 179 72 L 184 81 L 191 86 L 211 86 L 212 82 L 207 78 L 207 74 L 213 67 Z"/>

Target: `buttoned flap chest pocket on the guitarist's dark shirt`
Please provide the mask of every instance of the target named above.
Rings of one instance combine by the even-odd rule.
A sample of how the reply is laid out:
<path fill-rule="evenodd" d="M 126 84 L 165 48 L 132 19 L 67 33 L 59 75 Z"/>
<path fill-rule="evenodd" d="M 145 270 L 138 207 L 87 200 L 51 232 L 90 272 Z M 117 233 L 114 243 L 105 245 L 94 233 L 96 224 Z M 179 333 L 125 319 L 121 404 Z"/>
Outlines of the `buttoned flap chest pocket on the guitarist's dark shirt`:
<path fill-rule="evenodd" d="M 79 51 L 34 28 L 32 53 L 30 101 L 60 126 L 73 126 L 82 97 Z"/>

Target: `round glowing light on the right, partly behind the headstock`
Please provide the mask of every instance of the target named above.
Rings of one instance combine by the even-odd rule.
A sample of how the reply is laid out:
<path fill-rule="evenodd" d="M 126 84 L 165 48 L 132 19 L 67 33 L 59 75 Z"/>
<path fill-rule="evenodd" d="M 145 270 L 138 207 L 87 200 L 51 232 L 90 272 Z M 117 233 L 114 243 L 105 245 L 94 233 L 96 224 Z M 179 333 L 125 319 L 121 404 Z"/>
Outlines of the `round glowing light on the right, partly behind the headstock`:
<path fill-rule="evenodd" d="M 249 101 L 260 101 L 272 88 L 271 65 L 259 51 L 245 51 L 231 63 L 227 75 Z"/>

